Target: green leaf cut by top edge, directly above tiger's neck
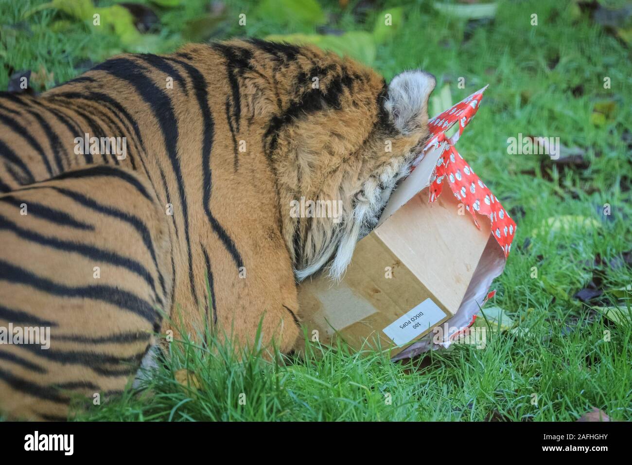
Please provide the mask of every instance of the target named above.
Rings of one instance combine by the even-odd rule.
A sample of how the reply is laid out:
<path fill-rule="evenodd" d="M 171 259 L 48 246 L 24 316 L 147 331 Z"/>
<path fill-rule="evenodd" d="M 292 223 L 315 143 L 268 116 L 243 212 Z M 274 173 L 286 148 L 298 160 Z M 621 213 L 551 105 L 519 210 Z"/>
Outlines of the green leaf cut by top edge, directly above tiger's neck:
<path fill-rule="evenodd" d="M 262 0 L 255 15 L 269 23 L 298 24 L 304 28 L 322 25 L 327 20 L 316 0 Z"/>

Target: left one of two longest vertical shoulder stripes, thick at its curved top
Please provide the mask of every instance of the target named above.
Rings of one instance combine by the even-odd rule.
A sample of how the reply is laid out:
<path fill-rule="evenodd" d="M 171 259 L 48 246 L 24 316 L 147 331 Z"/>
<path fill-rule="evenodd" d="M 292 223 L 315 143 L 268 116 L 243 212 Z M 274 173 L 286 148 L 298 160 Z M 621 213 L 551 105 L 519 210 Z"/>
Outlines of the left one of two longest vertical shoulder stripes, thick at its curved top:
<path fill-rule="evenodd" d="M 131 84 L 140 94 L 142 99 L 149 104 L 154 113 L 155 120 L 158 121 L 164 144 L 167 149 L 171 168 L 178 184 L 178 194 L 180 197 L 182 216 L 185 223 L 186 253 L 189 266 L 189 284 L 191 294 L 198 302 L 197 290 L 193 276 L 193 257 L 191 256 L 191 240 L 189 233 L 189 209 L 186 200 L 185 185 L 182 176 L 182 169 L 178 159 L 178 120 L 174 115 L 171 100 L 162 90 L 157 87 L 152 80 L 143 73 L 142 66 L 126 58 L 113 58 L 94 68 L 95 70 L 106 71 Z M 197 89 L 196 89 L 197 91 Z M 196 92 L 197 93 L 197 92 Z M 174 221 L 175 223 L 175 221 Z"/>

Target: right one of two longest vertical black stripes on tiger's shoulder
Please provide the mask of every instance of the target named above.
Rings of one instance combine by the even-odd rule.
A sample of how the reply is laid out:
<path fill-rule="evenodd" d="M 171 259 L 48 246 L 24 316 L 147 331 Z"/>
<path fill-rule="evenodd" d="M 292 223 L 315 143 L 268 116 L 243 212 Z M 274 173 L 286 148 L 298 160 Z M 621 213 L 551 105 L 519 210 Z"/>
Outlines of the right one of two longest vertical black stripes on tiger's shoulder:
<path fill-rule="evenodd" d="M 211 170 L 210 170 L 210 152 L 213 147 L 213 137 L 215 131 L 215 123 L 213 121 L 213 116 L 210 113 L 209 109 L 209 94 L 207 91 L 207 82 L 200 73 L 197 68 L 194 68 L 188 63 L 183 61 L 179 61 L 179 63 L 185 68 L 187 73 L 189 73 L 189 78 L 191 82 L 193 82 L 193 87 L 195 88 L 195 97 L 197 98 L 198 104 L 200 106 L 200 111 L 202 111 L 202 121 L 204 121 L 204 141 L 202 143 L 202 172 L 204 173 L 204 186 L 202 188 L 202 197 L 204 203 L 204 212 L 206 213 L 207 218 L 209 219 L 209 223 L 213 228 L 213 231 L 217 234 L 217 237 L 222 241 L 226 250 L 233 257 L 234 263 L 237 268 L 241 268 L 243 266 L 243 260 L 241 259 L 241 254 L 235 247 L 233 239 L 226 233 L 226 230 L 219 224 L 219 221 L 213 216 L 210 211 L 210 195 L 212 192 L 212 182 L 211 182 Z"/>

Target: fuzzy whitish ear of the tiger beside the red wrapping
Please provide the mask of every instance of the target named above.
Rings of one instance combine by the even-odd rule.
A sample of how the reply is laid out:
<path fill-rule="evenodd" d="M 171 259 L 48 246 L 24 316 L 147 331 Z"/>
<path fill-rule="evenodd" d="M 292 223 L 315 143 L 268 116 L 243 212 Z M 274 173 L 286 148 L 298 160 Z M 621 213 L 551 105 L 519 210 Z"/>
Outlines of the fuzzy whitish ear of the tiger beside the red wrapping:
<path fill-rule="evenodd" d="M 404 71 L 392 78 L 384 108 L 403 135 L 410 135 L 428 123 L 428 97 L 437 81 L 425 71 Z"/>

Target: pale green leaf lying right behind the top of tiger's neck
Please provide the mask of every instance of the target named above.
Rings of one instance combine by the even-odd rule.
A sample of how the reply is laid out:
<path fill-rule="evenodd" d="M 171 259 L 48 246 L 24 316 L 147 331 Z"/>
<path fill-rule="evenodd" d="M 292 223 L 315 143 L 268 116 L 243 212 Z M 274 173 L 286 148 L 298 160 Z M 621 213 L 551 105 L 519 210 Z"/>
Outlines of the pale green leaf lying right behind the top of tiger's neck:
<path fill-rule="evenodd" d="M 350 56 L 366 65 L 371 65 L 375 60 L 375 42 L 368 32 L 351 31 L 343 35 L 321 34 L 288 34 L 269 35 L 265 39 L 272 42 L 288 42 L 288 44 L 307 45 L 312 44 L 324 50 L 330 50 L 340 56 Z"/>

